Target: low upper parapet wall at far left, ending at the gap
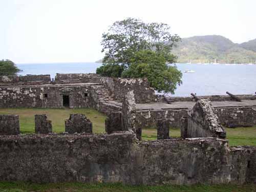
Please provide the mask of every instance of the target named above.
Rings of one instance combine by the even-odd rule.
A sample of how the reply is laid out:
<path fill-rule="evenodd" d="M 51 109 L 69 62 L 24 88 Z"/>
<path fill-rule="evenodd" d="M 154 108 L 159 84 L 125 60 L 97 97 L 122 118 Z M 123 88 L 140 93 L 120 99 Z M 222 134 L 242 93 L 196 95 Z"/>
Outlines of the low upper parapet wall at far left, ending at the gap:
<path fill-rule="evenodd" d="M 22 86 L 50 83 L 50 75 L 0 76 L 0 86 Z"/>

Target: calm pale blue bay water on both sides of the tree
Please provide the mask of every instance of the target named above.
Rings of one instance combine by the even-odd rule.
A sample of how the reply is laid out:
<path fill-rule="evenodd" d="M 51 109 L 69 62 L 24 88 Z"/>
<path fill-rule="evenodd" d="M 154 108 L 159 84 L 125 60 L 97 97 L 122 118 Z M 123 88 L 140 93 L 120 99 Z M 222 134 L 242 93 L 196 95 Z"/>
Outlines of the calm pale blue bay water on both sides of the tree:
<path fill-rule="evenodd" d="M 29 63 L 17 64 L 26 74 L 50 74 L 54 78 L 56 73 L 95 73 L 100 63 Z M 183 84 L 178 86 L 175 96 L 197 95 L 225 95 L 226 91 L 233 94 L 254 94 L 256 91 L 256 65 L 203 65 L 177 64 L 182 71 Z M 184 73 L 193 70 L 195 73 Z"/>

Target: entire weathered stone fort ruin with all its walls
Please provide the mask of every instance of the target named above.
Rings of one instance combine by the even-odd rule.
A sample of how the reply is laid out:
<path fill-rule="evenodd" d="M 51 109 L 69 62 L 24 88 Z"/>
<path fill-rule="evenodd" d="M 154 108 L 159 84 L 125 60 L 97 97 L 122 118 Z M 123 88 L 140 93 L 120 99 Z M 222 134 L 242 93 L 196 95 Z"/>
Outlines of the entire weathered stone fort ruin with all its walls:
<path fill-rule="evenodd" d="M 0 180 L 125 184 L 256 183 L 256 147 L 229 147 L 225 129 L 256 124 L 256 96 L 156 96 L 146 79 L 96 74 L 0 77 L 0 107 L 84 108 L 106 115 L 106 134 L 93 134 L 82 114 L 66 133 L 35 116 L 35 132 L 19 134 L 18 116 L 0 115 Z M 197 100 L 197 101 L 196 101 Z M 156 126 L 155 141 L 140 141 Z M 169 126 L 181 138 L 169 137 Z"/>

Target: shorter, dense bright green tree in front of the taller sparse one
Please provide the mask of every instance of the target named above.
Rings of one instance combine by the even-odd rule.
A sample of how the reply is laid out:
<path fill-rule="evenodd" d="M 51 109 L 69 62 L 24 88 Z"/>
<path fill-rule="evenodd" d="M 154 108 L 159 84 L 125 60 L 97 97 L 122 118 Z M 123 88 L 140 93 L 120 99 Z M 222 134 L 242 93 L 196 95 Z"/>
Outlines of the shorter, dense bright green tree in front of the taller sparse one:
<path fill-rule="evenodd" d="M 177 84 L 182 83 L 182 73 L 175 66 L 165 63 L 164 54 L 151 50 L 138 51 L 131 59 L 131 65 L 124 70 L 122 77 L 143 78 L 147 77 L 151 87 L 158 92 L 174 94 Z"/>

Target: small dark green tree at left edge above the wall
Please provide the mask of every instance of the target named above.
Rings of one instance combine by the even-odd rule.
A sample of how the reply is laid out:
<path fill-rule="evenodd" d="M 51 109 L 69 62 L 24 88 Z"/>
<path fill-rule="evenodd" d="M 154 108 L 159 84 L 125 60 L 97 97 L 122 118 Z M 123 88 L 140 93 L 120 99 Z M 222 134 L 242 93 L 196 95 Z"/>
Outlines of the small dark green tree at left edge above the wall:
<path fill-rule="evenodd" d="M 16 75 L 20 71 L 11 60 L 0 60 L 0 76 Z"/>

